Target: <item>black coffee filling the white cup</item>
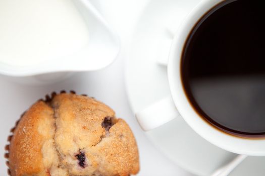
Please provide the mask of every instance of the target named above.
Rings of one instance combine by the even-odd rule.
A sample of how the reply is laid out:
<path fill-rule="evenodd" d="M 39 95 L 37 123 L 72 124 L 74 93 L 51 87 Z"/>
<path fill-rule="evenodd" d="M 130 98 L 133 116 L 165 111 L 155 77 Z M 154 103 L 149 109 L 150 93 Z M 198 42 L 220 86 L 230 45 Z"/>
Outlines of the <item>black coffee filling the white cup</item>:
<path fill-rule="evenodd" d="M 182 82 L 191 105 L 234 135 L 265 135 L 264 5 L 224 1 L 199 20 L 183 50 Z"/>

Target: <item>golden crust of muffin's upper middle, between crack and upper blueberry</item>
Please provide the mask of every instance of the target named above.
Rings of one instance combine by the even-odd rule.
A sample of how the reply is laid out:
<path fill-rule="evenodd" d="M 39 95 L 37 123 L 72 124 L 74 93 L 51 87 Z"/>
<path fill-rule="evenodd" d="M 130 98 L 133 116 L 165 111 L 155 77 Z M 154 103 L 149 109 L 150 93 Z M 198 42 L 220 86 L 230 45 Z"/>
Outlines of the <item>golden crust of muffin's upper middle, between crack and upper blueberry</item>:
<path fill-rule="evenodd" d="M 52 107 L 55 108 L 55 116 L 60 117 L 56 119 L 56 140 L 63 152 L 69 149 L 76 151 L 77 146 L 84 148 L 97 143 L 105 132 L 101 127 L 103 119 L 115 117 L 114 111 L 107 105 L 73 94 L 56 96 Z"/>

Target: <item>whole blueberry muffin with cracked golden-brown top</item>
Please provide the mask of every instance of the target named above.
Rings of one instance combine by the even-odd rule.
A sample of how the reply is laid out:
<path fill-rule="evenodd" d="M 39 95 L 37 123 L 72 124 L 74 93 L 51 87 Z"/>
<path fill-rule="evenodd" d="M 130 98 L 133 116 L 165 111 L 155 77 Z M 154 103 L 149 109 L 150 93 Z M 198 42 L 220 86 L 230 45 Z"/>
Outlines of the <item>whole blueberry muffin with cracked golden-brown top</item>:
<path fill-rule="evenodd" d="M 24 113 L 6 146 L 12 176 L 130 175 L 138 149 L 127 123 L 93 98 L 53 93 Z"/>

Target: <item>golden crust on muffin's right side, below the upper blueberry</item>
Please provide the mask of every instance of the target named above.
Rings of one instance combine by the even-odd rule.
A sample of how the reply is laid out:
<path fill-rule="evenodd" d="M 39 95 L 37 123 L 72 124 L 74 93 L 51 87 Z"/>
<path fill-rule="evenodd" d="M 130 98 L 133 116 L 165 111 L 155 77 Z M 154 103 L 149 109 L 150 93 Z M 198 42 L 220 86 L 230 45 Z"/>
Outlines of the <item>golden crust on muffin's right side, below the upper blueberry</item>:
<path fill-rule="evenodd" d="M 127 123 L 118 119 L 110 129 L 108 137 L 90 149 L 102 158 L 102 172 L 113 175 L 136 174 L 139 170 L 139 158 L 136 141 Z"/>

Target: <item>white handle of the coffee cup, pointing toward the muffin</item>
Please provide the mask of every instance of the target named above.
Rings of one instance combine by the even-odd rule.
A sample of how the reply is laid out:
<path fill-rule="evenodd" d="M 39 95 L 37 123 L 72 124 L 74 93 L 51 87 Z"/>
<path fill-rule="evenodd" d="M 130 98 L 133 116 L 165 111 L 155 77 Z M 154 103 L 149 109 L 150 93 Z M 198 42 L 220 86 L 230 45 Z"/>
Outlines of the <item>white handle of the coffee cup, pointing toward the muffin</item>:
<path fill-rule="evenodd" d="M 144 131 L 152 130 L 180 116 L 173 99 L 168 96 L 135 114 Z"/>

